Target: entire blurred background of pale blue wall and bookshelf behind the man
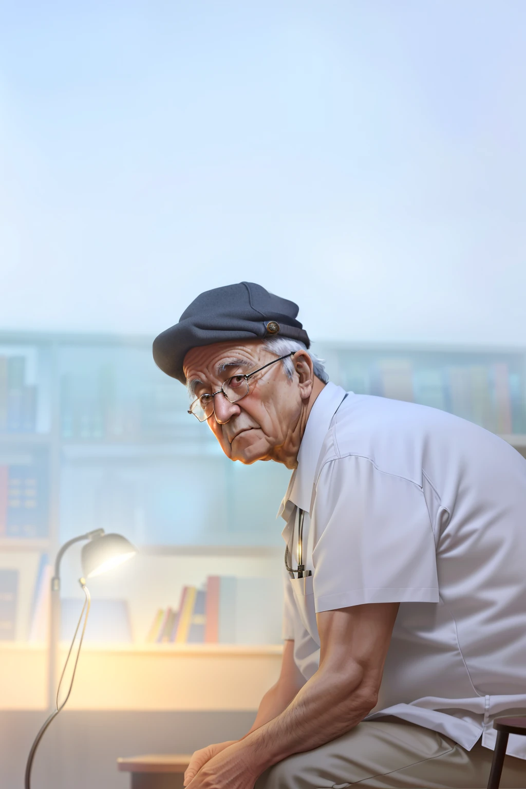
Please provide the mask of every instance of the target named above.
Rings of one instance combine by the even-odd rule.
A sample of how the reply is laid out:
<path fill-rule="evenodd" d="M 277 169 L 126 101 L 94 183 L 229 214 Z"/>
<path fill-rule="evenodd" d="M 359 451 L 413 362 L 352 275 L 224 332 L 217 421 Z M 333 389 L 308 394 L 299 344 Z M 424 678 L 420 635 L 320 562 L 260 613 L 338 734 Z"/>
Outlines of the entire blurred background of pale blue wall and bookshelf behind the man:
<path fill-rule="evenodd" d="M 526 456 L 526 4 L 29 0 L 0 25 L 0 785 L 241 737 L 282 660 L 289 471 L 232 463 L 151 342 L 259 282 L 346 391 Z M 55 608 L 53 609 L 56 610 Z M 51 645 L 51 646 L 50 646 Z M 56 666 L 54 664 L 57 664 Z"/>

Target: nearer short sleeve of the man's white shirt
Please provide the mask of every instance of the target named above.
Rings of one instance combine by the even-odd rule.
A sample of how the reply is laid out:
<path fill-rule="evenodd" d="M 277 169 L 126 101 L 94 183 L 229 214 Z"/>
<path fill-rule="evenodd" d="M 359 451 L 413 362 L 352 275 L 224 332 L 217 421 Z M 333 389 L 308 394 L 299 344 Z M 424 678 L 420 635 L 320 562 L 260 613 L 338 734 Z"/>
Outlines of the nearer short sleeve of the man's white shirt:
<path fill-rule="evenodd" d="M 316 611 L 438 603 L 435 537 L 414 482 L 350 455 L 326 463 L 312 510 Z"/>

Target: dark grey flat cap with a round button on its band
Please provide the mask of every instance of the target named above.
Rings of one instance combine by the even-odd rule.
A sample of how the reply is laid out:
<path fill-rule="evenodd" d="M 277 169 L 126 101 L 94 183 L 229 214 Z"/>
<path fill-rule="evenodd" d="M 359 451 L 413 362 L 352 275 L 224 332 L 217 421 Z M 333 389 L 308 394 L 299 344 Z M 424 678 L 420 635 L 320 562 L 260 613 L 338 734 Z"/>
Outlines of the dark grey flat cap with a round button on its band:
<path fill-rule="evenodd" d="M 155 338 L 155 364 L 167 376 L 186 383 L 183 360 L 191 348 L 228 340 L 288 337 L 310 346 L 296 320 L 298 306 L 274 296 L 255 282 L 237 282 L 206 290 L 185 309 L 179 323 Z"/>

